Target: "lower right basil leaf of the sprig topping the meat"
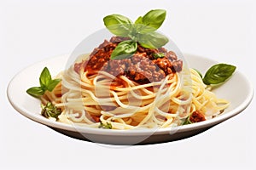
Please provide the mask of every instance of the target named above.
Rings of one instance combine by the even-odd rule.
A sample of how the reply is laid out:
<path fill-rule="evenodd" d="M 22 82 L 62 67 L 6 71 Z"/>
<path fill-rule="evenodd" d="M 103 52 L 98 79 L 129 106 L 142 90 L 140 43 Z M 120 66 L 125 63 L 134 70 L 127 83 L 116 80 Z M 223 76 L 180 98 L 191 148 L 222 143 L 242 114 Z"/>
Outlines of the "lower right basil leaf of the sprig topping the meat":
<path fill-rule="evenodd" d="M 160 48 L 166 45 L 168 41 L 166 36 L 158 32 L 150 32 L 138 36 L 138 42 L 143 48 Z"/>

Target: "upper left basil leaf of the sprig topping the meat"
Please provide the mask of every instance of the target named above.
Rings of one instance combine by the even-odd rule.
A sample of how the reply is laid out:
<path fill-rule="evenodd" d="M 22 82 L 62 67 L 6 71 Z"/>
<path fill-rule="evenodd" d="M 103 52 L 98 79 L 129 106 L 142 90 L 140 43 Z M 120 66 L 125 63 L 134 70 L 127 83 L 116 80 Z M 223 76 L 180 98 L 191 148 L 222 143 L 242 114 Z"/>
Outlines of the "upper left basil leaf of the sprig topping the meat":
<path fill-rule="evenodd" d="M 108 31 L 119 37 L 128 37 L 132 30 L 132 21 L 121 14 L 108 15 L 103 21 Z"/>

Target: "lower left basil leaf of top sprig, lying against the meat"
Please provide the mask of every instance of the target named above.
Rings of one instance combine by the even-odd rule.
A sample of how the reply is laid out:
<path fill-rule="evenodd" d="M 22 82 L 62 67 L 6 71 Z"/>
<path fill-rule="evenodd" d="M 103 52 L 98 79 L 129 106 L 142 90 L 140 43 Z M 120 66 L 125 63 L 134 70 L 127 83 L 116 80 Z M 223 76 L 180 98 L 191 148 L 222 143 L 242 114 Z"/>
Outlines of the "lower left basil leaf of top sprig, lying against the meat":
<path fill-rule="evenodd" d="M 124 41 L 119 42 L 118 46 L 114 48 L 111 59 L 126 59 L 131 57 L 137 51 L 137 42 Z"/>

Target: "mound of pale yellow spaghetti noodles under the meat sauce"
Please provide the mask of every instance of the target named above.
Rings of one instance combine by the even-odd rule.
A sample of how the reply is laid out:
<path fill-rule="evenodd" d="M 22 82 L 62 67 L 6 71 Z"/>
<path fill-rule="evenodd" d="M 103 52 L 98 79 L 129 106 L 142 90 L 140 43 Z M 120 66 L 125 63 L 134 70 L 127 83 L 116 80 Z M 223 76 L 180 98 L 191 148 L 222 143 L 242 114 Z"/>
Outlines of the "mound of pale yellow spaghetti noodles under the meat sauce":
<path fill-rule="evenodd" d="M 78 73 L 74 66 L 57 77 L 62 82 L 44 94 L 43 103 L 51 101 L 62 108 L 59 122 L 87 127 L 99 127 L 100 122 L 113 129 L 178 126 L 194 111 L 211 119 L 229 105 L 207 89 L 193 69 L 146 84 L 106 71 Z"/>

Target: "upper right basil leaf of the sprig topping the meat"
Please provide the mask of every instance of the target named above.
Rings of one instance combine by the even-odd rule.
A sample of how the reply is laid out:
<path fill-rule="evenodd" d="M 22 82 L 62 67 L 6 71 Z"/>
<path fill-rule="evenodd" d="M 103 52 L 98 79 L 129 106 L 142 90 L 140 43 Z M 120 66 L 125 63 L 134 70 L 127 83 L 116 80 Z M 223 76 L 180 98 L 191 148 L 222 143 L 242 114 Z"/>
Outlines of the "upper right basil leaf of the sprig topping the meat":
<path fill-rule="evenodd" d="M 163 9 L 154 9 L 150 10 L 143 17 L 139 17 L 135 24 L 137 25 L 137 32 L 139 33 L 148 33 L 156 31 L 166 20 L 166 10 Z M 144 25 L 144 26 L 141 26 Z"/>

